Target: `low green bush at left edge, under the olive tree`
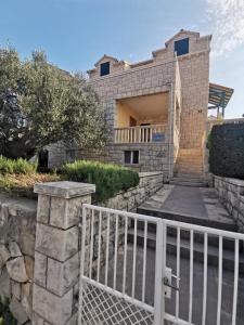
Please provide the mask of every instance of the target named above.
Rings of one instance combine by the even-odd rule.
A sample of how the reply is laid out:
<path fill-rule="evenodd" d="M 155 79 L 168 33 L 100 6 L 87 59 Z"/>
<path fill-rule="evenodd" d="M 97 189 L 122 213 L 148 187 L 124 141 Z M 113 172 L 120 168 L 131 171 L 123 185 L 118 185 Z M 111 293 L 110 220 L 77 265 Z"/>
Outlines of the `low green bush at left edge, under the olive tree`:
<path fill-rule="evenodd" d="M 18 158 L 16 160 L 8 159 L 3 156 L 0 156 L 0 173 L 33 173 L 37 169 L 36 165 L 28 162 L 25 159 Z"/>

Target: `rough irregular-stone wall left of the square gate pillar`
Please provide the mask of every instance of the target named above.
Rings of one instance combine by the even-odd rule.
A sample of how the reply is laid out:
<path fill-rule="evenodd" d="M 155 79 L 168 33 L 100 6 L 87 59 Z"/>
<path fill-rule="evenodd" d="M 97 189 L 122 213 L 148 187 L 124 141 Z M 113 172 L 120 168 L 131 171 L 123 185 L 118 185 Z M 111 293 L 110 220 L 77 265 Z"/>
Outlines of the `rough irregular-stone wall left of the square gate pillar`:
<path fill-rule="evenodd" d="M 36 203 L 0 195 L 0 297 L 18 324 L 33 317 Z"/>

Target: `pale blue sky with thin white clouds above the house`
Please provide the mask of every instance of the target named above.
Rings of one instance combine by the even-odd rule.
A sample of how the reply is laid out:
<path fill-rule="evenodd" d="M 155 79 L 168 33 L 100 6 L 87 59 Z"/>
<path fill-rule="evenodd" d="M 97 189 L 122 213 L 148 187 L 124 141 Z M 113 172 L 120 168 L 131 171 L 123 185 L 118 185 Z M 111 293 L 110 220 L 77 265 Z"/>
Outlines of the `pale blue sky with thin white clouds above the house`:
<path fill-rule="evenodd" d="M 227 118 L 244 114 L 244 0 L 0 0 L 0 47 L 69 72 L 147 60 L 181 28 L 211 34 L 210 81 L 234 88 Z"/>

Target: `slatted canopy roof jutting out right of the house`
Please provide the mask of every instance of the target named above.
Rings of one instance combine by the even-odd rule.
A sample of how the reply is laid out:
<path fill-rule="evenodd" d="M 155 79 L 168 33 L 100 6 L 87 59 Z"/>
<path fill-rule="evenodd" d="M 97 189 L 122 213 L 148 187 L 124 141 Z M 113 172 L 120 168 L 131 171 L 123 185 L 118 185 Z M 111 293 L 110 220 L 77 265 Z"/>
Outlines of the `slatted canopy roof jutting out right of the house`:
<path fill-rule="evenodd" d="M 208 103 L 211 104 L 209 108 L 226 108 L 234 90 L 229 87 L 209 83 Z"/>

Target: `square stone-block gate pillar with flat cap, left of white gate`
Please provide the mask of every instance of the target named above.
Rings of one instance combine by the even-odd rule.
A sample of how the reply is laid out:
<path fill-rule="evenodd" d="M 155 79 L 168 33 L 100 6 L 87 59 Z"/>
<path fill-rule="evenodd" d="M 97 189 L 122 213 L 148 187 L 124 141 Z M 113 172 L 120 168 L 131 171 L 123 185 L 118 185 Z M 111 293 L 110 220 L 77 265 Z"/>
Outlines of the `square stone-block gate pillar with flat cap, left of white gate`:
<path fill-rule="evenodd" d="M 77 324 L 80 232 L 92 184 L 36 184 L 38 193 L 34 274 L 34 325 Z"/>

